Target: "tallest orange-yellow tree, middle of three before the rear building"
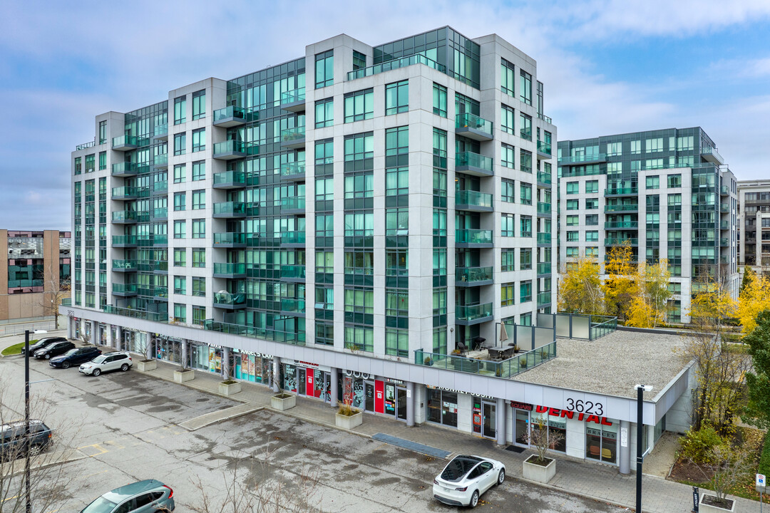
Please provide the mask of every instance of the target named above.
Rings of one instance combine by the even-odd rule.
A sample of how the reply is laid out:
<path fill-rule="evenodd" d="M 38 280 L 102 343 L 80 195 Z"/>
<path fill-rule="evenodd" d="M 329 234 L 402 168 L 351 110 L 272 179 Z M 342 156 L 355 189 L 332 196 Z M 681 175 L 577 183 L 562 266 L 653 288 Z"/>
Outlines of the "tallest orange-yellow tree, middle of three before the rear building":
<path fill-rule="evenodd" d="M 617 315 L 620 319 L 628 318 L 631 300 L 637 294 L 637 280 L 634 279 L 637 265 L 631 241 L 613 246 L 604 261 L 604 310 L 608 315 Z"/>

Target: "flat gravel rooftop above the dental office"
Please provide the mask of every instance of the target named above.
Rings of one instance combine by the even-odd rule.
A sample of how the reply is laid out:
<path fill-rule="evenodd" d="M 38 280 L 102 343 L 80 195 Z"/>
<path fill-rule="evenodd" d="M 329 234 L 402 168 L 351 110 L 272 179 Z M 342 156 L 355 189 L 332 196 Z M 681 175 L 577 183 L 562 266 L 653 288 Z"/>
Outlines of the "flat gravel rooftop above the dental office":
<path fill-rule="evenodd" d="M 557 338 L 551 361 L 515 376 L 516 381 L 635 398 L 634 385 L 652 385 L 651 400 L 685 368 L 686 338 L 613 331 L 594 341 Z"/>

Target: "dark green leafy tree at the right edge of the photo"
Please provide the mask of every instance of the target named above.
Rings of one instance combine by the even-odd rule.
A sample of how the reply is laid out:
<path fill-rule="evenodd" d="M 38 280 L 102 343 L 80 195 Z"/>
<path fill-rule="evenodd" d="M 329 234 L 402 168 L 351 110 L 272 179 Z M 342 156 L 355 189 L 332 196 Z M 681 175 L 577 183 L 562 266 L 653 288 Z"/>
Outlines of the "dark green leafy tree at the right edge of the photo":
<path fill-rule="evenodd" d="M 753 372 L 746 373 L 748 405 L 743 421 L 770 429 L 770 310 L 759 312 L 757 326 L 743 338 L 752 357 Z"/>

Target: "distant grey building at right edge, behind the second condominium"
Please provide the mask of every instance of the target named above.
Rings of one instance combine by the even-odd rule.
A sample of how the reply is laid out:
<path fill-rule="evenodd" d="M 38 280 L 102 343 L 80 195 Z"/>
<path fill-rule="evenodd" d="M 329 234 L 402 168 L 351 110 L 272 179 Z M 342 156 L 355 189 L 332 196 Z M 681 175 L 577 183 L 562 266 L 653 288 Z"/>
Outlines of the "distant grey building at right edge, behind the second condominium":
<path fill-rule="evenodd" d="M 738 265 L 770 268 L 770 180 L 738 182 Z"/>

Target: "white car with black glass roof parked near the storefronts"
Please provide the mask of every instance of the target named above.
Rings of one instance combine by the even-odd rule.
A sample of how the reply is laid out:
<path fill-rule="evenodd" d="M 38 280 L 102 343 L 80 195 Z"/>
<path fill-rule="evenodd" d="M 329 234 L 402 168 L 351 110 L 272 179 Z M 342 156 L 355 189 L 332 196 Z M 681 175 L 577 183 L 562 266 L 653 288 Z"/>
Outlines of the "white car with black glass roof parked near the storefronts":
<path fill-rule="evenodd" d="M 460 455 L 434 479 L 434 498 L 444 504 L 475 508 L 481 494 L 505 481 L 505 465 L 480 456 Z"/>

